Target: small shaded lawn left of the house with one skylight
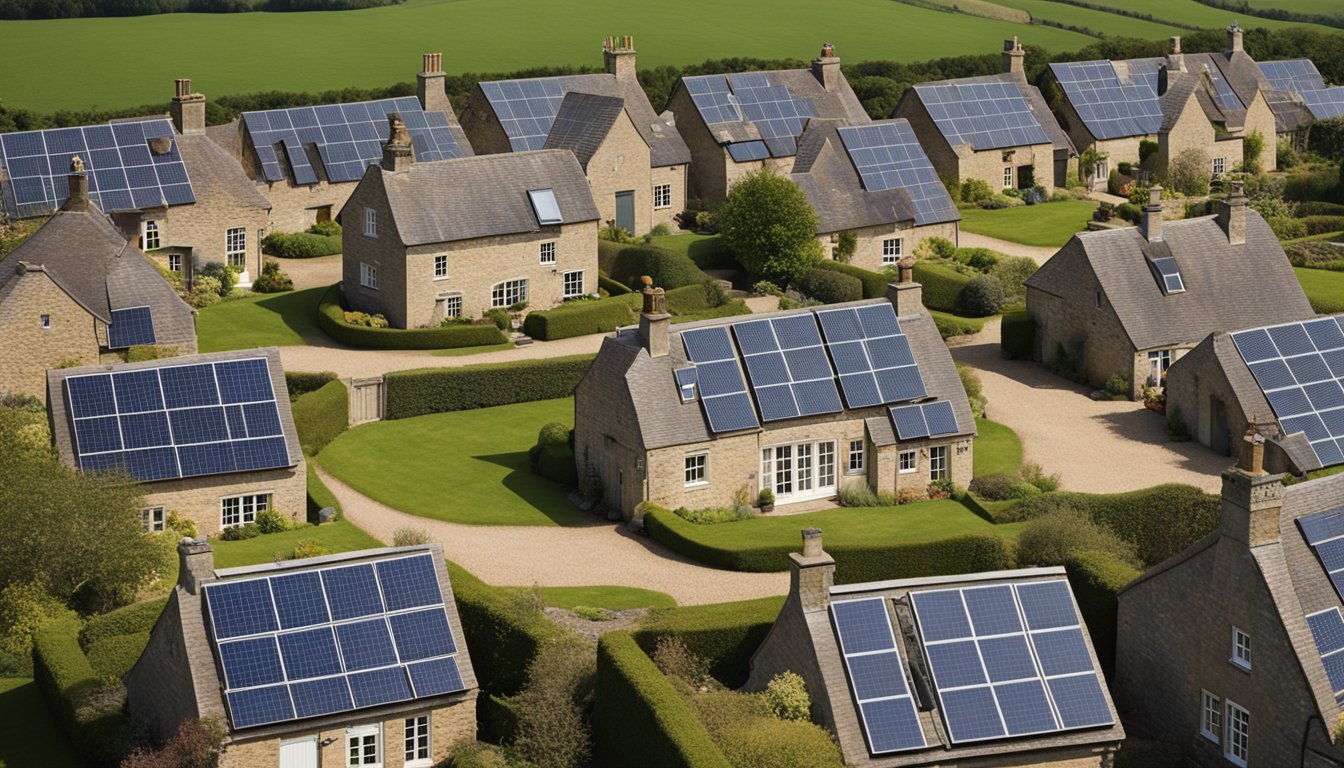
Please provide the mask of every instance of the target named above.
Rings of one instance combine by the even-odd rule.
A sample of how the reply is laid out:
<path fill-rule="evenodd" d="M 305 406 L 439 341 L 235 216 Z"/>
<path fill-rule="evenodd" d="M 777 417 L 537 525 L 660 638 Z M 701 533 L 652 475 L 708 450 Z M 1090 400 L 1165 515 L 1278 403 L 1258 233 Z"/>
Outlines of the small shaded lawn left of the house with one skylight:
<path fill-rule="evenodd" d="M 304 344 L 323 336 L 317 303 L 327 288 L 261 293 L 206 307 L 196 316 L 196 346 L 202 352 Z"/>

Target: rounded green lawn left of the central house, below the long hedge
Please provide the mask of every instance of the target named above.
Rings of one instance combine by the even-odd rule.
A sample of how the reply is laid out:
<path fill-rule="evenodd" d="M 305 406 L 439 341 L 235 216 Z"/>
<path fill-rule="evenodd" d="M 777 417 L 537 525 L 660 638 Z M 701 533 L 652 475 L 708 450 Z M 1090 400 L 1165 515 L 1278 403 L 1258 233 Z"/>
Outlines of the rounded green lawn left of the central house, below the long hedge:
<path fill-rule="evenodd" d="M 317 455 L 352 488 L 439 521 L 493 526 L 581 525 L 593 518 L 532 475 L 542 425 L 574 424 L 574 399 L 543 399 L 356 426 Z"/>

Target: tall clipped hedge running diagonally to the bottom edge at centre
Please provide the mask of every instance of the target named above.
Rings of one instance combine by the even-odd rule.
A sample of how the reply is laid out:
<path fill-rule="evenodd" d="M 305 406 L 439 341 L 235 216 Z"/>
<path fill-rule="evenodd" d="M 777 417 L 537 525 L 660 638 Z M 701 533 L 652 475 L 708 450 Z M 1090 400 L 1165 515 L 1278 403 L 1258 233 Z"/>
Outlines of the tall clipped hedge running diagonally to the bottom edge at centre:
<path fill-rule="evenodd" d="M 602 635 L 593 691 L 593 764 L 730 768 L 691 706 L 628 632 Z"/>

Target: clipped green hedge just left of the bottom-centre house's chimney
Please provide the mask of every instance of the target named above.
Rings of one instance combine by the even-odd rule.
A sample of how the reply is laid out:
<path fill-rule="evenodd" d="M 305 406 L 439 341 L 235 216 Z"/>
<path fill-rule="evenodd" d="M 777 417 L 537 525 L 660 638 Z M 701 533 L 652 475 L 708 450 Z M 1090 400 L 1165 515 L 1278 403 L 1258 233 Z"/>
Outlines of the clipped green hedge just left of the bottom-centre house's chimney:
<path fill-rule="evenodd" d="M 784 597 L 739 603 L 657 608 L 632 633 L 646 654 L 659 638 L 677 638 L 710 663 L 710 674 L 730 689 L 741 687 L 751 673 L 751 656 L 774 627 Z"/>

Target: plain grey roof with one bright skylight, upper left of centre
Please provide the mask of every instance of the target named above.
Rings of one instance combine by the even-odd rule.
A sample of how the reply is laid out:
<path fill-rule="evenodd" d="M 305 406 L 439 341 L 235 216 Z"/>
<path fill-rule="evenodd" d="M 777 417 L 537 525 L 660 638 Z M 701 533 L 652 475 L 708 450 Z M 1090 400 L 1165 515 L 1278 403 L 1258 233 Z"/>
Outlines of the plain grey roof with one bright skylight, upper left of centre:
<path fill-rule="evenodd" d="M 567 149 L 414 163 L 388 174 L 370 165 L 407 246 L 540 231 L 530 190 L 554 190 L 566 225 L 598 219 L 583 168 Z"/>

